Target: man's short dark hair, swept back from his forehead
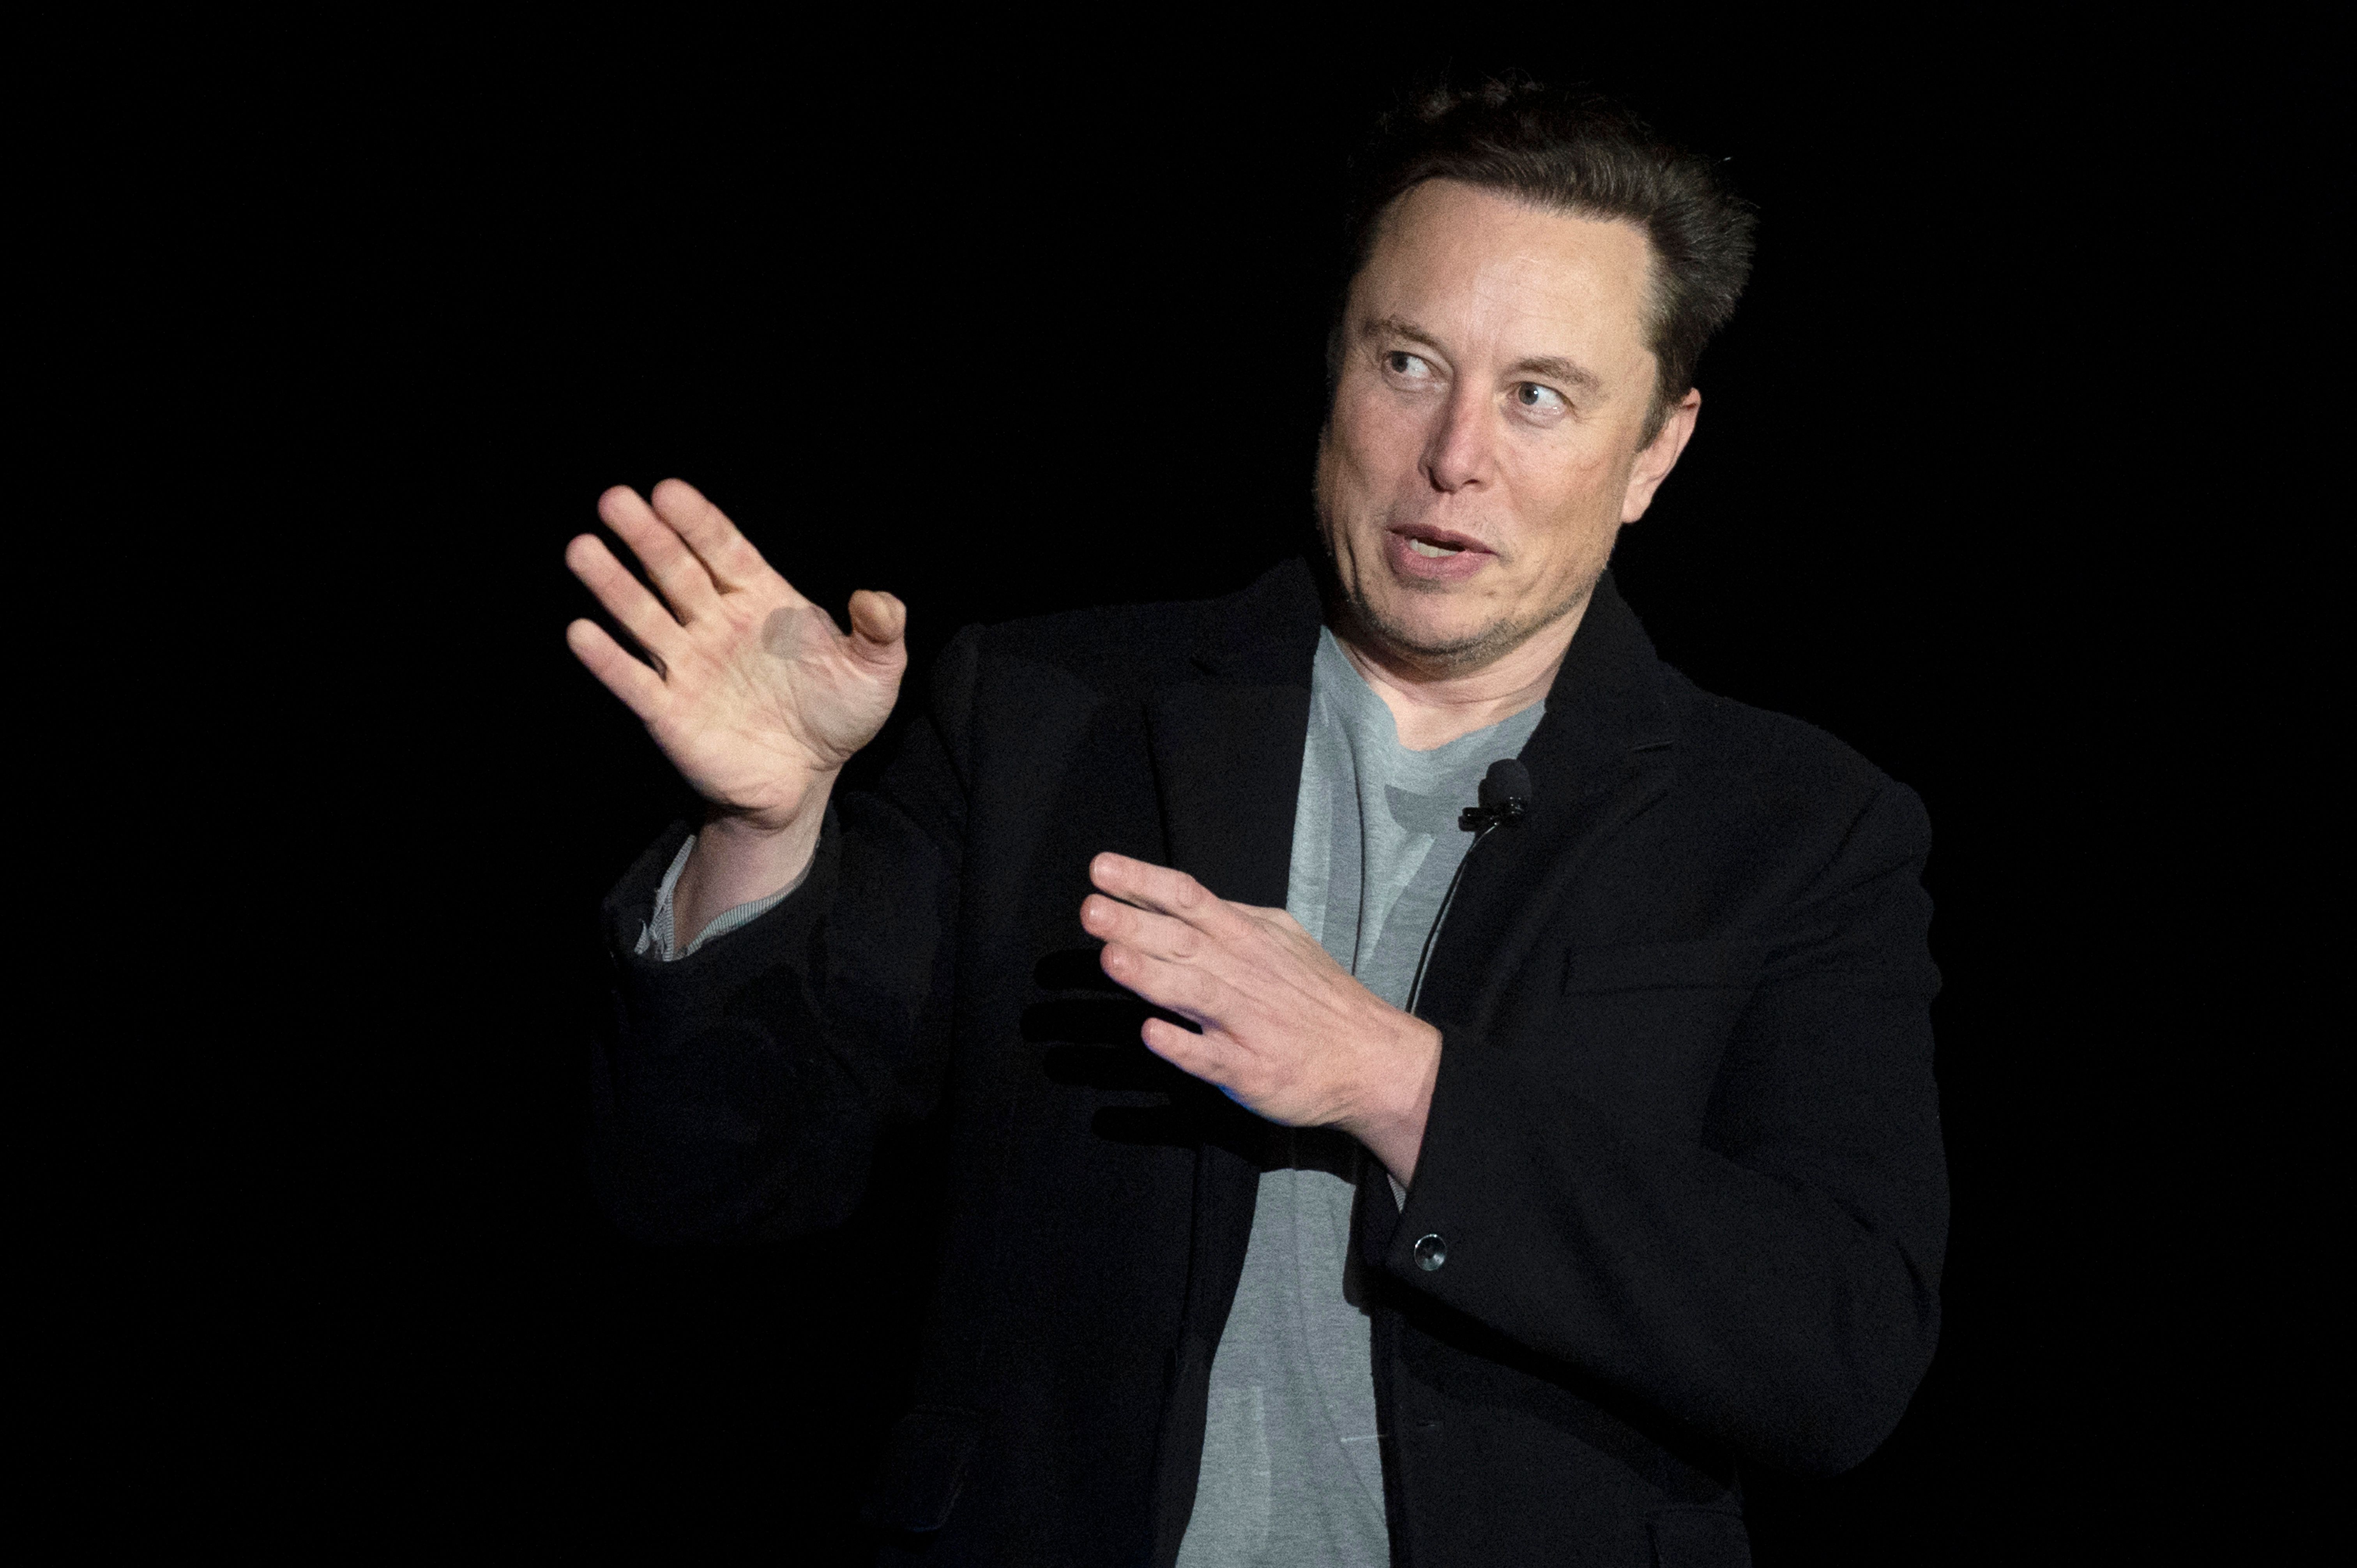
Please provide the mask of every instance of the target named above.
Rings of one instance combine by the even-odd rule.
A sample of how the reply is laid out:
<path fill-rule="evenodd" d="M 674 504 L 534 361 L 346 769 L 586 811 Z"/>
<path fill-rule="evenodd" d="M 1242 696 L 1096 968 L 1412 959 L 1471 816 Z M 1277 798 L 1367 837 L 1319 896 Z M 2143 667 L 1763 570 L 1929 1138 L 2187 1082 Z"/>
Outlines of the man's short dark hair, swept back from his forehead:
<path fill-rule="evenodd" d="M 1751 276 L 1751 205 L 1718 165 L 1678 151 L 1622 104 L 1527 78 L 1471 92 L 1419 92 L 1376 123 L 1351 167 L 1346 252 L 1327 337 L 1327 394 L 1341 375 L 1351 285 L 1365 271 L 1384 215 L 1426 179 L 1459 179 L 1577 217 L 1622 219 L 1652 243 L 1650 342 L 1659 382 L 1650 441 L 1695 384 L 1702 347 L 1735 314 Z"/>

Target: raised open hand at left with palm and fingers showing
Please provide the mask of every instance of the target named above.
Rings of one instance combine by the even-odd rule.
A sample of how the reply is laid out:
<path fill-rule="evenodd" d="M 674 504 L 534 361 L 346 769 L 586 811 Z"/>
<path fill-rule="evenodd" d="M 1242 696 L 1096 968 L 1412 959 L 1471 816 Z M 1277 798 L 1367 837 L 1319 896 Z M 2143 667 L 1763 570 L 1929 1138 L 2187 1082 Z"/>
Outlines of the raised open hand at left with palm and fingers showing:
<path fill-rule="evenodd" d="M 846 637 L 693 486 L 665 479 L 651 500 L 615 486 L 596 509 L 662 599 L 596 535 L 573 540 L 566 564 L 655 667 L 594 620 L 568 625 L 566 644 L 712 804 L 672 894 L 686 943 L 808 863 L 834 776 L 891 717 L 907 608 L 860 589 Z"/>

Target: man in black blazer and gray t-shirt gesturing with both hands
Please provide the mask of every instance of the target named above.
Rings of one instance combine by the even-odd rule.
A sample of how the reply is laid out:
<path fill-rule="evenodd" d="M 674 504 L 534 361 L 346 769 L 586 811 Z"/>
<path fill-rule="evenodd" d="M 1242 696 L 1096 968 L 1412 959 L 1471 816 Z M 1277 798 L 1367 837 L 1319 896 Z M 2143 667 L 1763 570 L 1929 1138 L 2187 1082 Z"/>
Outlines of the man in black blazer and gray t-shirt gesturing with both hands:
<path fill-rule="evenodd" d="M 608 903 L 615 1214 L 811 1233 L 945 1113 L 889 1561 L 1739 1563 L 1739 1464 L 1855 1464 L 1930 1358 L 1921 806 L 1605 573 L 1749 219 L 1537 87 L 1367 170 L 1322 559 L 959 634 L 872 792 L 896 599 L 837 632 L 676 481 L 601 500 L 660 599 L 568 552 L 712 806 Z"/>

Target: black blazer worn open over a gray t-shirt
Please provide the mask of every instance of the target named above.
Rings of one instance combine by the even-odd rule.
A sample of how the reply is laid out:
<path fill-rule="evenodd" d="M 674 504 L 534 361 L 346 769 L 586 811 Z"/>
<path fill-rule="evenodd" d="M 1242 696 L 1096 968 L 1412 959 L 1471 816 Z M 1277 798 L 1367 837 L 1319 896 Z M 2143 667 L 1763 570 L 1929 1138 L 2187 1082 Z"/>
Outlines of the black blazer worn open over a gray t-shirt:
<path fill-rule="evenodd" d="M 870 1500 L 889 1561 L 1176 1559 L 1261 1125 L 1138 1045 L 1080 901 L 1115 849 L 1285 903 L 1318 625 L 1296 561 L 966 630 L 775 910 L 632 957 L 684 828 L 608 901 L 627 1231 L 839 1224 L 879 1127 L 943 1111 L 919 1408 Z M 1742 1563 L 1737 1462 L 1857 1464 L 1933 1351 L 1928 825 L 1834 738 L 1662 665 L 1610 578 L 1523 759 L 1534 804 L 1471 856 L 1426 976 L 1414 1191 L 1398 1212 L 1367 1160 L 1358 1203 L 1393 1556 Z"/>

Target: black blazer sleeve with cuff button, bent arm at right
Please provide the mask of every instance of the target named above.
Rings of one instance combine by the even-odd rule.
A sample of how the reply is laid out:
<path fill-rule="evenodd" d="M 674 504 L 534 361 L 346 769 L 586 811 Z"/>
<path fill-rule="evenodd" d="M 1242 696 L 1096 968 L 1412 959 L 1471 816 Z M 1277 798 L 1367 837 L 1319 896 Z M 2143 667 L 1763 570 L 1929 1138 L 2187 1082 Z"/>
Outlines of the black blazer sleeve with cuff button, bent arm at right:
<path fill-rule="evenodd" d="M 1928 849 L 1921 802 L 1883 785 L 1780 924 L 1699 1141 L 1447 1035 L 1414 1188 L 1369 1261 L 1739 1452 L 1864 1460 L 1940 1323 Z"/>

